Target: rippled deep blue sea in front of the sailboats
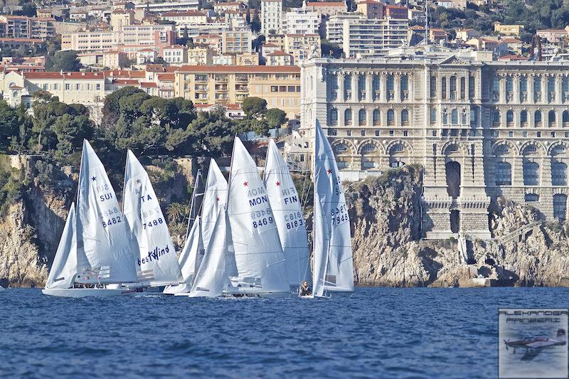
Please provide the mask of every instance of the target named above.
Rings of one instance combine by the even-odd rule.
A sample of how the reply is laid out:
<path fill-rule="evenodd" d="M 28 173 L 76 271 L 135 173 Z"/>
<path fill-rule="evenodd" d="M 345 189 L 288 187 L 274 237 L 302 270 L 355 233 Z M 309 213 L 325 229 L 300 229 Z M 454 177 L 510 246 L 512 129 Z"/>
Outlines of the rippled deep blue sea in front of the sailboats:
<path fill-rule="evenodd" d="M 351 299 L 0 293 L 0 377 L 491 378 L 497 309 L 569 289 L 358 288 Z"/>

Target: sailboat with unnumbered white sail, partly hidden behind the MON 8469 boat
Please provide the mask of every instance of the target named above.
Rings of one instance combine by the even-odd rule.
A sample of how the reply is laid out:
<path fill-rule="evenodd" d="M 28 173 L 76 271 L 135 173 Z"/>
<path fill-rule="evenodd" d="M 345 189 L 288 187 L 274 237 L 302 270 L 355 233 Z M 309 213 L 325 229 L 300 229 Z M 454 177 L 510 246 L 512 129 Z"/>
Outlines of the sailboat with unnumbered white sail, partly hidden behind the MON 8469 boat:
<path fill-rule="evenodd" d="M 225 203 L 227 202 L 227 181 L 214 159 L 210 160 L 205 188 L 200 189 L 201 186 L 198 184 L 200 178 L 201 175 L 198 171 L 196 175 L 196 186 L 194 187 L 192 195 L 190 219 L 188 220 L 188 227 L 190 223 L 193 223 L 193 225 L 191 226 L 190 233 L 188 233 L 186 237 L 184 250 L 182 250 L 179 258 L 179 265 L 182 270 L 184 282 L 166 287 L 164 294 L 184 296 L 190 292 L 193 278 L 198 272 L 198 267 L 200 267 L 203 255 L 211 240 L 219 210 L 225 208 Z M 199 205 L 200 203 L 201 205 Z M 198 218 L 197 215 L 200 209 L 201 219 L 196 227 L 193 218 Z"/>

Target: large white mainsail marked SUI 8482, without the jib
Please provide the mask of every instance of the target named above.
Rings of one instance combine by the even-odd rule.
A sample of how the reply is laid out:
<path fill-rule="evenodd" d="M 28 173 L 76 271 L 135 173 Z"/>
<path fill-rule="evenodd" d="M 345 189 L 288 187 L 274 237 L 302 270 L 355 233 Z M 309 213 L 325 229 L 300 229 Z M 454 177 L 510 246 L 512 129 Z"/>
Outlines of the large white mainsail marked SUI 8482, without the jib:
<path fill-rule="evenodd" d="M 83 142 L 77 205 L 77 245 L 88 260 L 91 272 L 83 279 L 101 283 L 135 282 L 131 233 L 119 209 L 105 167 L 87 140 Z"/>

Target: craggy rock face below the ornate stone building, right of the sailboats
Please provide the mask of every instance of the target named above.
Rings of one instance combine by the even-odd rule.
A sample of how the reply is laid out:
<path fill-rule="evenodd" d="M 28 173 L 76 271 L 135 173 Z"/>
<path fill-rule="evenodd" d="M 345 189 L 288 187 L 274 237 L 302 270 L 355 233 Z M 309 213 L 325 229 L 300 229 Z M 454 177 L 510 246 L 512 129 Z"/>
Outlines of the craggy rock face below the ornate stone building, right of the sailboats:
<path fill-rule="evenodd" d="M 499 285 L 568 284 L 565 230 L 504 199 L 492 210 L 494 240 L 420 240 L 420 181 L 420 168 L 405 166 L 348 186 L 358 284 L 457 287 L 475 277 Z"/>

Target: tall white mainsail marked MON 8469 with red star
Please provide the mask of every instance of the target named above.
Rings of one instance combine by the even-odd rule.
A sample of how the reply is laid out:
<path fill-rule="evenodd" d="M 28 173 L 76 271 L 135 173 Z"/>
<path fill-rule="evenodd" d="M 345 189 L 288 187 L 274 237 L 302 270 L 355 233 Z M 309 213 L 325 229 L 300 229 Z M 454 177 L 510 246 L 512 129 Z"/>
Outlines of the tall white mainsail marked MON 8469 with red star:
<path fill-rule="evenodd" d="M 243 292 L 289 292 L 269 197 L 257 165 L 238 137 L 233 144 L 228 216 L 239 274 L 234 284 Z"/>

